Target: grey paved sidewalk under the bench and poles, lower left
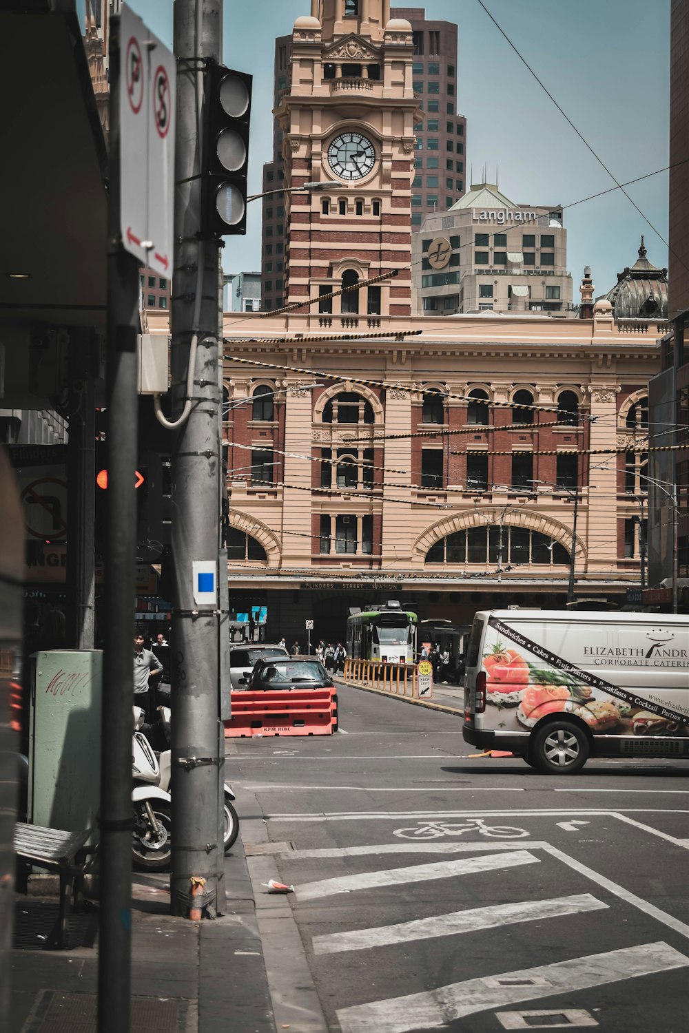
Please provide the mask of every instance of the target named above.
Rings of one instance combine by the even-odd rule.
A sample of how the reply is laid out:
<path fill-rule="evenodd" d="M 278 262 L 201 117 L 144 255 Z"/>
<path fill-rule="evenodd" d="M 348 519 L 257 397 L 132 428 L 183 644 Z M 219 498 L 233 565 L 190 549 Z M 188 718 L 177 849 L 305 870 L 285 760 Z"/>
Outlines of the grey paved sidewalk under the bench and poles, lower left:
<path fill-rule="evenodd" d="M 131 1033 L 275 1033 L 254 890 L 241 836 L 225 858 L 226 913 L 170 916 L 169 875 L 132 884 Z M 6 1033 L 95 1033 L 97 909 L 70 919 L 70 949 L 45 949 L 56 898 L 17 897 Z"/>

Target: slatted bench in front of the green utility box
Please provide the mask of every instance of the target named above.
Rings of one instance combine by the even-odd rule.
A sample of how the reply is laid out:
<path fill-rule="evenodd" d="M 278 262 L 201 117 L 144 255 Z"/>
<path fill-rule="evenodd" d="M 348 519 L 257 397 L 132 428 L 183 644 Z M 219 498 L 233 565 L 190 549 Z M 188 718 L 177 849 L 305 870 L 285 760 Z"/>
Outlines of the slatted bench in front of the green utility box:
<path fill-rule="evenodd" d="M 70 903 L 75 912 L 84 908 L 84 873 L 88 855 L 95 846 L 87 846 L 91 829 L 81 833 L 60 828 L 43 828 L 18 822 L 14 826 L 14 853 L 23 862 L 18 873 L 18 888 L 27 891 L 28 875 L 32 865 L 57 872 L 60 876 L 60 911 L 57 925 L 57 946 L 68 947 Z"/>

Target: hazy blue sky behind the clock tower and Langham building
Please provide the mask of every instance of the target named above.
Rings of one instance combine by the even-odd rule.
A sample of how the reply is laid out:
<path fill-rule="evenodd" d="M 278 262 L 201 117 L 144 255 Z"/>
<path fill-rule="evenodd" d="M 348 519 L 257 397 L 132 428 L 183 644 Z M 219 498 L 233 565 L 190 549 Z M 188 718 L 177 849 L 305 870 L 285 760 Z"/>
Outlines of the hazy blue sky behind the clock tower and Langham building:
<path fill-rule="evenodd" d="M 510 200 L 564 208 L 575 302 L 584 267 L 596 296 L 605 293 L 636 260 L 641 234 L 649 259 L 667 265 L 666 171 L 625 187 L 631 200 L 616 190 L 576 202 L 615 187 L 609 173 L 624 184 L 668 164 L 669 0 L 482 2 L 542 86 L 479 0 L 419 3 L 428 19 L 459 27 L 458 113 L 467 117 L 473 182 L 483 166 L 493 181 L 497 167 Z M 171 48 L 173 0 L 128 3 Z M 309 0 L 224 0 L 222 60 L 254 76 L 249 193 L 260 192 L 272 156 L 275 38 L 310 10 Z M 260 269 L 260 202 L 250 204 L 246 237 L 225 239 L 226 273 Z"/>

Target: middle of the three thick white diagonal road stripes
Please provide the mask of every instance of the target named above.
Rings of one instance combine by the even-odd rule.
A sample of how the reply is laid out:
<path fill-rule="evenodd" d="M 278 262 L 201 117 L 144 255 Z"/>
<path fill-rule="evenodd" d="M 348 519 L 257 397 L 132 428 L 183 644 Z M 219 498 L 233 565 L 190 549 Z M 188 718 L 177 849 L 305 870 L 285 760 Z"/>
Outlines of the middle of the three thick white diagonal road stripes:
<path fill-rule="evenodd" d="M 364 950 L 367 947 L 384 947 L 390 943 L 407 943 L 411 940 L 428 940 L 436 936 L 455 936 L 458 933 L 473 933 L 479 929 L 495 929 L 498 926 L 512 926 L 520 921 L 540 921 L 543 918 L 559 918 L 578 911 L 598 911 L 608 905 L 596 900 L 591 894 L 572 897 L 556 897 L 545 901 L 523 901 L 513 904 L 497 904 L 491 907 L 469 908 L 453 911 L 432 918 L 416 921 L 401 921 L 395 926 L 379 926 L 376 929 L 358 929 L 349 933 L 330 933 L 314 936 L 313 949 L 317 954 L 334 954 L 342 950 Z"/>

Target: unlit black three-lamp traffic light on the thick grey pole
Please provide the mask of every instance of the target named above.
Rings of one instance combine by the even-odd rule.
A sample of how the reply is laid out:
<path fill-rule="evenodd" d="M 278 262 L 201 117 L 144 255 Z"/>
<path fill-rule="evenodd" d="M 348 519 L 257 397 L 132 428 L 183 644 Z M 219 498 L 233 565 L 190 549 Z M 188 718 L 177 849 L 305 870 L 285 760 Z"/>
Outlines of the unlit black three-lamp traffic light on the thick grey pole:
<path fill-rule="evenodd" d="M 251 75 L 206 69 L 201 237 L 246 233 Z"/>

